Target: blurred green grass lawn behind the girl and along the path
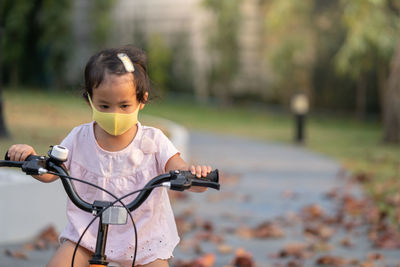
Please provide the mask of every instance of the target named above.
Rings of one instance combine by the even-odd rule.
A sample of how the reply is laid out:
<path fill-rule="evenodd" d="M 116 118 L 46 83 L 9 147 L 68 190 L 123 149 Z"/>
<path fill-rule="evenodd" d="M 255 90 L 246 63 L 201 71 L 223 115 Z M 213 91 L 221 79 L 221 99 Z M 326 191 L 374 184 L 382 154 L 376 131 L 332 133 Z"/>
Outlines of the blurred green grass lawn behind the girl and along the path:
<path fill-rule="evenodd" d="M 7 90 L 3 98 L 12 139 L 0 141 L 0 153 L 11 144 L 27 143 L 43 154 L 74 126 L 91 120 L 89 107 L 77 93 Z M 267 109 L 199 105 L 174 99 L 155 100 L 141 114 L 163 117 L 193 130 L 261 141 L 293 141 L 293 117 Z M 365 185 L 367 192 L 392 212 L 386 200 L 400 188 L 400 146 L 381 143 L 378 123 L 312 115 L 307 118 L 306 137 L 307 148 L 339 160 L 354 173 L 372 177 Z"/>

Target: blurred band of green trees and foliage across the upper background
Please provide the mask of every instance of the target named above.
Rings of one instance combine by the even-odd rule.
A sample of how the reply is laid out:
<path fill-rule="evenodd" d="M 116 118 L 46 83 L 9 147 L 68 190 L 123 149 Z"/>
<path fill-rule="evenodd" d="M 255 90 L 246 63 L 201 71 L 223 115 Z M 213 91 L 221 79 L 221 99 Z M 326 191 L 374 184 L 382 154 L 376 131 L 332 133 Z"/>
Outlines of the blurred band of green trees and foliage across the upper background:
<path fill-rule="evenodd" d="M 118 0 L 87 1 L 86 24 L 76 23 L 78 2 L 1 1 L 5 86 L 63 90 L 82 83 L 80 74 L 68 75 L 76 68 L 71 64 L 76 54 L 88 57 L 76 52 L 80 43 L 75 32 L 89 28 L 89 54 L 115 44 L 113 9 Z M 247 2 L 255 5 L 261 22 L 254 47 L 259 54 L 247 64 L 264 67 L 257 67 L 258 80 L 241 81 Z M 154 29 L 143 30 L 146 23 L 138 21 L 124 40 L 147 51 L 150 76 L 161 95 L 200 99 L 202 94 L 202 100 L 223 105 L 250 101 L 285 107 L 293 94 L 303 92 L 314 110 L 378 118 L 392 132 L 385 140 L 399 142 L 400 108 L 393 102 L 399 89 L 390 89 L 399 76 L 391 67 L 398 47 L 399 5 L 398 0 L 201 0 L 198 9 L 207 12 L 209 21 L 203 32 L 203 72 L 194 67 L 190 32 L 168 38 Z"/>

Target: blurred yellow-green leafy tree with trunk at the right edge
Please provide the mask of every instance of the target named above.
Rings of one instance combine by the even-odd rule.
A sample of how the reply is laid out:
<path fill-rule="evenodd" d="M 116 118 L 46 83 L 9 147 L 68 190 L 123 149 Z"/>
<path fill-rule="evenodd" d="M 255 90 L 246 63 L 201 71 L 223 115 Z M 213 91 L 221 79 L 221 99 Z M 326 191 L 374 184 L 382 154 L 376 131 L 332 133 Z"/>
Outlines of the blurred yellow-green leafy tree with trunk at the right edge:
<path fill-rule="evenodd" d="M 341 3 L 347 36 L 337 55 L 338 69 L 358 81 L 360 115 L 365 113 L 366 74 L 376 73 L 383 139 L 400 143 L 400 1 L 342 0 Z"/>

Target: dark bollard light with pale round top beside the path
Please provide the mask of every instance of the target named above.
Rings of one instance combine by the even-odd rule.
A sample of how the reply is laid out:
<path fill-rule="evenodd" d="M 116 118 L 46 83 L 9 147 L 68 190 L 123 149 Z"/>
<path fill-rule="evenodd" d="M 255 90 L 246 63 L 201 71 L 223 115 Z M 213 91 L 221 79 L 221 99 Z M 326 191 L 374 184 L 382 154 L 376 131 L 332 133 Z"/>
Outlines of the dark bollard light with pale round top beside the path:
<path fill-rule="evenodd" d="M 295 136 L 294 141 L 302 144 L 305 139 L 305 120 L 308 112 L 308 98 L 305 94 L 296 94 L 291 101 L 291 109 L 295 115 Z"/>

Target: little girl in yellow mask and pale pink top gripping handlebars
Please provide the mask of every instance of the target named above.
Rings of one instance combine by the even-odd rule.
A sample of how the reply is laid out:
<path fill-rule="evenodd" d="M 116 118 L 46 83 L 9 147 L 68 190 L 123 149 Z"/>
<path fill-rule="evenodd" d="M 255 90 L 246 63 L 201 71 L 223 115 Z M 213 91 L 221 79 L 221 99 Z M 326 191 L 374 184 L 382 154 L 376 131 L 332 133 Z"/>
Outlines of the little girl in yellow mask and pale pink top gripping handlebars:
<path fill-rule="evenodd" d="M 61 143 L 69 149 L 66 167 L 72 177 L 123 196 L 170 170 L 189 169 L 197 177 L 211 172 L 210 166 L 189 167 L 160 130 L 138 122 L 138 112 L 149 97 L 149 84 L 146 56 L 140 49 L 133 46 L 107 49 L 90 58 L 85 68 L 84 97 L 92 109 L 93 121 L 74 128 Z M 20 161 L 31 154 L 36 154 L 31 146 L 20 144 L 11 146 L 8 152 L 11 160 Z M 58 178 L 50 174 L 34 177 L 42 182 Z M 114 200 L 86 184 L 76 182 L 74 185 L 89 203 L 95 199 Z M 132 215 L 138 229 L 137 264 L 168 266 L 167 260 L 172 257 L 179 237 L 166 189 L 153 190 Z M 48 266 L 71 266 L 76 242 L 93 216 L 68 200 L 67 218 L 68 224 L 60 236 L 61 246 Z M 94 225 L 80 243 L 74 266 L 88 266 L 96 235 L 97 225 Z M 131 266 L 134 240 L 131 224 L 110 226 L 107 260 Z"/>

